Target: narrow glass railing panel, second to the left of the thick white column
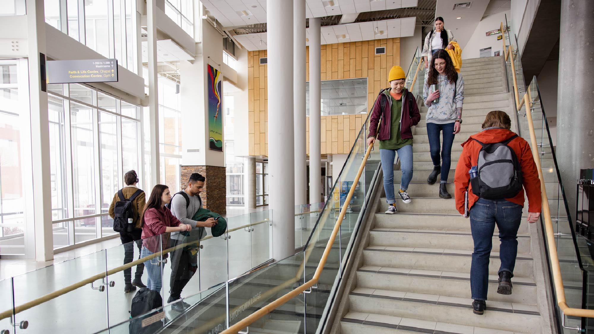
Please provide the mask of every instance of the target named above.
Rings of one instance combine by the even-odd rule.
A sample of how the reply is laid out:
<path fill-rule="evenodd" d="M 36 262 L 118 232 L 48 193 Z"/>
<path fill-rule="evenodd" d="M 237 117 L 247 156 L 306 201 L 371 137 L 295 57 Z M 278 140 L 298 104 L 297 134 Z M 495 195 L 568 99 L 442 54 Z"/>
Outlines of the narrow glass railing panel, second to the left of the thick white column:
<path fill-rule="evenodd" d="M 228 231 L 230 231 L 228 243 L 229 278 L 233 278 L 252 269 L 251 214 L 229 217 L 227 224 Z"/>

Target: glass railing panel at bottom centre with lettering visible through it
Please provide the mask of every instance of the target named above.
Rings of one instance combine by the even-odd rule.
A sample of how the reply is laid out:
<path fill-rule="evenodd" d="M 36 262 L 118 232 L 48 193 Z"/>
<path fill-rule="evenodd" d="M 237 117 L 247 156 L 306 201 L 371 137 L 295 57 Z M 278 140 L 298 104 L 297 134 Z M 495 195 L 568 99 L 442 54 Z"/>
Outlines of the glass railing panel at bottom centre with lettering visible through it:
<path fill-rule="evenodd" d="M 229 325 L 303 284 L 303 252 L 229 282 Z M 250 332 L 303 333 L 303 294 L 250 325 Z M 245 329 L 244 329 L 245 330 Z"/>

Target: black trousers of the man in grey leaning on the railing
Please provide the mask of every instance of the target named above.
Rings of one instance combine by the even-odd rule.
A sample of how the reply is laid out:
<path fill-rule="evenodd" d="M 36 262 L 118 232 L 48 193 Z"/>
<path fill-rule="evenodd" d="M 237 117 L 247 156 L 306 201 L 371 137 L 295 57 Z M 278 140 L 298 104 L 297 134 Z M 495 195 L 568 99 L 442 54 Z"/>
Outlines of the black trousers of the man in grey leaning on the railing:
<path fill-rule="evenodd" d="M 171 247 L 187 243 L 187 240 L 171 240 Z M 198 269 L 197 255 L 192 255 L 188 250 L 182 248 L 171 253 L 171 278 L 169 280 L 170 301 L 181 297 L 182 290 Z M 193 264 L 193 265 L 192 265 Z M 168 303 L 170 302 L 168 301 Z"/>

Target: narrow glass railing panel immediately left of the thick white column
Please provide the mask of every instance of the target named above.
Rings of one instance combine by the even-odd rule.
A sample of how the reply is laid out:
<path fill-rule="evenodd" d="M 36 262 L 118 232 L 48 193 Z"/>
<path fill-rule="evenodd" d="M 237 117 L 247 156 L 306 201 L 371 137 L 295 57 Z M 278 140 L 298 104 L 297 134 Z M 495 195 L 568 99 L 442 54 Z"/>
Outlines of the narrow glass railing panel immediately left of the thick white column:
<path fill-rule="evenodd" d="M 251 224 L 251 268 L 255 268 L 272 259 L 272 210 L 252 212 Z M 239 252 L 240 250 L 234 250 Z"/>

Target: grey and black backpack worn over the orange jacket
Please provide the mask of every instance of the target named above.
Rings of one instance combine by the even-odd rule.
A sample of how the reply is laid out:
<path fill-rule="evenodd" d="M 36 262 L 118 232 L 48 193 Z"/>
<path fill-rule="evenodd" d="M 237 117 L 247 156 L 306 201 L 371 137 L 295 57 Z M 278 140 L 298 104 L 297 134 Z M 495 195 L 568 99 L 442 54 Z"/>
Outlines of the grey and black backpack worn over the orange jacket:
<path fill-rule="evenodd" d="M 513 198 L 522 190 L 522 166 L 516 152 L 509 147 L 518 135 L 492 144 L 481 144 L 476 161 L 478 175 L 470 179 L 472 192 L 484 199 Z"/>

